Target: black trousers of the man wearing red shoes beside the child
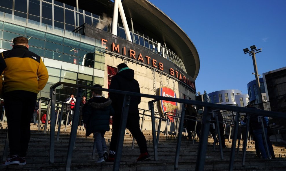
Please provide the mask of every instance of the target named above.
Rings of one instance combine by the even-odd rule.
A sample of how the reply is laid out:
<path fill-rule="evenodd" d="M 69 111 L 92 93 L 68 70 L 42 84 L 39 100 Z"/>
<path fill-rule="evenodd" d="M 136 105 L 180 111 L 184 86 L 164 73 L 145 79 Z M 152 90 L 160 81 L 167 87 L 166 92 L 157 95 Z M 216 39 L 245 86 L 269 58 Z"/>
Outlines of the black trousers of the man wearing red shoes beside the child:
<path fill-rule="evenodd" d="M 112 122 L 112 136 L 110 141 L 109 150 L 116 151 L 116 144 L 118 140 L 119 127 L 120 127 L 120 116 L 113 116 Z M 140 124 L 139 124 L 139 114 L 128 114 L 126 128 L 129 129 L 137 144 L 140 148 L 140 153 L 147 152 L 147 143 L 144 134 L 141 132 Z"/>

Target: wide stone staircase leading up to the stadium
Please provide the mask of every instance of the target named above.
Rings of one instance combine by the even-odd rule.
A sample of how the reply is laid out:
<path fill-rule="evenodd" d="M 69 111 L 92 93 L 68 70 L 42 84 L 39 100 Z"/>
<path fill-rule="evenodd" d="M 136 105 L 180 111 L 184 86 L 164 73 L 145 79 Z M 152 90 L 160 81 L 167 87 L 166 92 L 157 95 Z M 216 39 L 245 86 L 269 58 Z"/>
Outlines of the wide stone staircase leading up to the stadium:
<path fill-rule="evenodd" d="M 7 133 L 7 125 L 3 123 L 0 128 L 0 159 L 3 157 L 3 149 L 5 145 L 5 138 Z M 57 129 L 56 129 L 57 130 Z M 28 148 L 28 155 L 26 156 L 27 164 L 23 166 L 0 166 L 0 171 L 64 171 L 67 156 L 67 149 L 69 143 L 69 132 L 71 126 L 68 126 L 67 131 L 64 127 L 61 128 L 59 141 L 55 141 L 55 162 L 49 164 L 49 125 L 47 134 L 43 134 L 43 125 L 38 131 L 37 125 L 31 125 L 31 139 Z M 151 161 L 135 162 L 140 154 L 138 145 L 135 142 L 134 149 L 131 149 L 133 136 L 127 130 L 124 137 L 124 145 L 121 157 L 120 170 L 122 171 L 171 171 L 174 170 L 174 160 L 176 151 L 176 142 L 174 135 L 164 136 L 160 134 L 158 144 L 158 160 L 153 160 L 153 144 L 152 132 L 143 131 L 151 155 Z M 111 131 L 106 132 L 105 139 L 107 142 L 107 149 L 109 149 Z M 221 159 L 219 146 L 215 146 L 213 150 L 213 140 L 209 137 L 207 145 L 207 154 L 204 170 L 206 171 L 227 171 L 230 161 L 231 142 L 225 140 L 226 148 L 223 149 L 224 159 Z M 180 157 L 179 157 L 179 171 L 195 170 L 197 149 L 199 140 L 195 140 L 195 144 L 188 140 L 184 134 L 181 142 Z M 254 142 L 250 141 L 247 144 L 245 166 L 241 166 L 242 161 L 242 141 L 240 144 L 239 157 L 234 160 L 233 170 L 235 171 L 282 171 L 286 170 L 286 148 L 285 144 L 273 142 L 274 153 L 276 159 L 259 159 L 254 158 L 256 155 L 254 149 Z M 113 163 L 96 163 L 98 155 L 96 153 L 95 160 L 92 159 L 93 138 L 89 136 L 86 138 L 85 131 L 82 127 L 78 128 L 75 149 L 73 151 L 71 170 L 76 171 L 112 171 Z M 9 153 L 9 152 L 8 152 Z M 235 153 L 236 156 L 237 153 Z M 7 158 L 4 157 L 5 159 Z"/>

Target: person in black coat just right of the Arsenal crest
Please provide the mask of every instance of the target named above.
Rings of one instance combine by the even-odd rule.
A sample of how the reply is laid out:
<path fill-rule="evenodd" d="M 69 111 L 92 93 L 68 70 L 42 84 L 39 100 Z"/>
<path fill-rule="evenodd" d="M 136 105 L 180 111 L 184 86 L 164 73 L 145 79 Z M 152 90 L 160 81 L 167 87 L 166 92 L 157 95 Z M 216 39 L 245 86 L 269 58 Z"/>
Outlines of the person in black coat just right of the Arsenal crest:
<path fill-rule="evenodd" d="M 192 140 L 193 134 L 191 131 L 195 131 L 196 120 L 198 117 L 197 110 L 191 104 L 186 104 L 185 118 L 186 118 L 186 129 L 188 132 L 189 140 Z M 192 119 L 192 120 L 190 120 Z M 201 122 L 197 122 L 196 133 L 200 138 L 201 136 Z"/>

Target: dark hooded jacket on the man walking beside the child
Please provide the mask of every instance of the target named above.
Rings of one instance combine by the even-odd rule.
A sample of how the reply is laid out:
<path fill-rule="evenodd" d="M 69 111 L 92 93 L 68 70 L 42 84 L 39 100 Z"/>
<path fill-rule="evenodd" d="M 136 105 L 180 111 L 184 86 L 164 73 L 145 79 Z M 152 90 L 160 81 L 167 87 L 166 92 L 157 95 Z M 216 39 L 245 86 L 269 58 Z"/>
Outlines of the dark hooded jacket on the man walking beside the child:
<path fill-rule="evenodd" d="M 134 79 L 134 70 L 125 69 L 113 76 L 109 89 L 140 93 L 139 83 Z M 115 110 L 115 114 L 121 115 L 124 94 L 109 93 L 109 97 L 112 100 L 112 106 Z M 140 96 L 131 96 L 129 113 L 139 114 L 138 104 L 140 104 L 140 102 Z"/>

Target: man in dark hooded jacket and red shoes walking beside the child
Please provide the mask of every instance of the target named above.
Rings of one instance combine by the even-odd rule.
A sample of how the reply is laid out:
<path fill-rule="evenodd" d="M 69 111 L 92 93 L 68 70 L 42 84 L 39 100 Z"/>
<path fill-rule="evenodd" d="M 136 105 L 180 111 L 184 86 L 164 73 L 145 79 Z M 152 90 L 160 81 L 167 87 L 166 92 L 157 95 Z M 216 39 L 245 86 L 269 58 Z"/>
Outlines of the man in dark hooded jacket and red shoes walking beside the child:
<path fill-rule="evenodd" d="M 139 83 L 137 80 L 134 79 L 134 70 L 129 69 L 129 67 L 125 63 L 119 64 L 117 66 L 117 74 L 112 77 L 109 89 L 140 93 Z M 109 160 L 113 161 L 116 152 L 116 143 L 119 134 L 124 95 L 109 93 L 109 97 L 112 100 L 112 106 L 115 110 L 115 115 L 113 116 L 112 123 L 113 131 L 111 136 L 109 153 Z M 140 104 L 140 102 L 141 97 L 131 96 L 126 128 L 129 129 L 131 134 L 134 136 L 140 148 L 141 154 L 138 159 L 136 159 L 136 161 L 147 161 L 151 158 L 147 151 L 146 138 L 140 130 L 140 117 L 138 110 L 138 104 Z"/>

